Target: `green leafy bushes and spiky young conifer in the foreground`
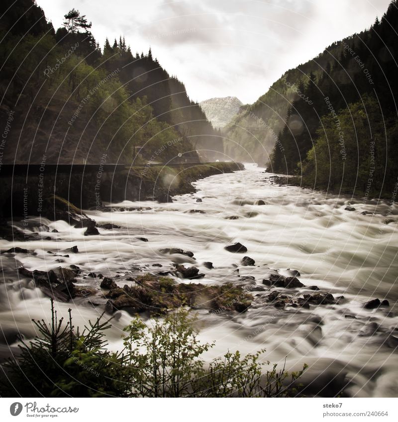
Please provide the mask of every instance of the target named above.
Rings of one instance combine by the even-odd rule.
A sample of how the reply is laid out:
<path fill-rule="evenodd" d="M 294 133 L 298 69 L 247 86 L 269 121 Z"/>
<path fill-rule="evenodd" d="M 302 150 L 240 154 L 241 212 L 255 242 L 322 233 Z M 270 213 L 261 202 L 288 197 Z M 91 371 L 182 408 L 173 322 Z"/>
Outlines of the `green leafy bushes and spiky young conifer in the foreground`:
<path fill-rule="evenodd" d="M 40 336 L 26 343 L 3 369 L 1 395 L 14 397 L 291 397 L 306 368 L 291 372 L 265 367 L 265 350 L 241 356 L 227 351 L 206 363 L 203 352 L 214 343 L 198 339 L 196 317 L 180 309 L 154 320 L 134 318 L 124 329 L 124 348 L 106 349 L 109 321 L 89 322 L 82 333 L 69 321 L 58 321 L 51 301 L 51 322 L 34 321 Z"/>

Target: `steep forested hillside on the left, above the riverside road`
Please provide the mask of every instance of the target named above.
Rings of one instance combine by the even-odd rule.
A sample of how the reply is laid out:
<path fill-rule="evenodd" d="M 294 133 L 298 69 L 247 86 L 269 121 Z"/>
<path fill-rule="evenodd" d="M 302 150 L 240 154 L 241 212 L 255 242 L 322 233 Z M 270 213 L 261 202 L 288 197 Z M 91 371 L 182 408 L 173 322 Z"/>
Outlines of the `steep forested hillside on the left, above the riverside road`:
<path fill-rule="evenodd" d="M 102 52 L 75 9 L 56 31 L 31 0 L 4 0 L 0 15 L 2 163 L 95 164 L 104 154 L 108 163 L 168 162 L 178 153 L 197 161 L 195 149 L 202 160 L 222 152 L 199 104 L 150 50 L 133 55 L 120 38 Z"/>

